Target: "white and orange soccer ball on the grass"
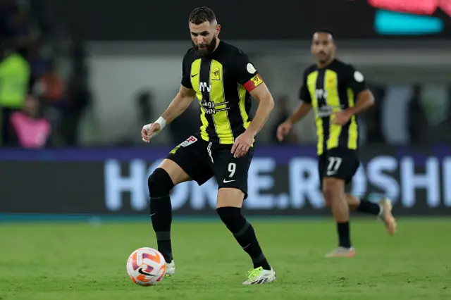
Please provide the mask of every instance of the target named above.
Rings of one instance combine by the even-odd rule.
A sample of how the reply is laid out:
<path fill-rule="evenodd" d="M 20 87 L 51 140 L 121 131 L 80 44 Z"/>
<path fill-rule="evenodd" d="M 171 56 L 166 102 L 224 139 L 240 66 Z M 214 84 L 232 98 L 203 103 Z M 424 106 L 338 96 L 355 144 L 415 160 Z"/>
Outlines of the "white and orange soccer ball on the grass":
<path fill-rule="evenodd" d="M 140 248 L 128 257 L 127 273 L 132 282 L 149 287 L 156 285 L 166 274 L 166 261 L 163 255 L 152 248 Z"/>

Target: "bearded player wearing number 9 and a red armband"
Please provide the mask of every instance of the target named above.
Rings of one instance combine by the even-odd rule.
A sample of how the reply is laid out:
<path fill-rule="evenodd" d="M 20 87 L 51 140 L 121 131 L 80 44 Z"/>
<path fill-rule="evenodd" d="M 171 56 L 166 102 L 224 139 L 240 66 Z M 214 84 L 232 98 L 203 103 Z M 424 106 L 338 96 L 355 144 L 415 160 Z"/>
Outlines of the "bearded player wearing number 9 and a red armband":
<path fill-rule="evenodd" d="M 276 273 L 241 211 L 247 198 L 254 137 L 273 109 L 273 97 L 247 55 L 218 39 L 221 26 L 211 9 L 195 8 L 189 27 L 192 48 L 183 57 L 180 90 L 161 117 L 144 125 L 141 132 L 142 139 L 149 142 L 194 98 L 199 100 L 200 131 L 176 146 L 149 176 L 150 212 L 158 249 L 168 263 L 166 272 L 173 275 L 169 192 L 180 182 L 195 180 L 202 185 L 214 176 L 218 182 L 216 212 L 254 263 L 243 285 L 273 282 Z M 253 120 L 250 96 L 259 103 Z"/>

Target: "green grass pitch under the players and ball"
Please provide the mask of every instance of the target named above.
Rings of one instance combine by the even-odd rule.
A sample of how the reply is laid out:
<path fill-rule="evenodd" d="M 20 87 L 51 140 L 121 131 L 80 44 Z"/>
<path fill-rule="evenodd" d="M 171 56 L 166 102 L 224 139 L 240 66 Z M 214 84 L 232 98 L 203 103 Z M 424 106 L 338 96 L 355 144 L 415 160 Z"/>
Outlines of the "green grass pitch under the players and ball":
<path fill-rule="evenodd" d="M 125 270 L 132 251 L 156 247 L 150 223 L 1 224 L 0 299 L 451 299 L 451 220 L 398 220 L 395 237 L 354 220 L 354 258 L 323 257 L 337 242 L 332 220 L 252 222 L 271 285 L 242 286 L 249 258 L 219 221 L 173 223 L 177 273 L 155 287 Z"/>

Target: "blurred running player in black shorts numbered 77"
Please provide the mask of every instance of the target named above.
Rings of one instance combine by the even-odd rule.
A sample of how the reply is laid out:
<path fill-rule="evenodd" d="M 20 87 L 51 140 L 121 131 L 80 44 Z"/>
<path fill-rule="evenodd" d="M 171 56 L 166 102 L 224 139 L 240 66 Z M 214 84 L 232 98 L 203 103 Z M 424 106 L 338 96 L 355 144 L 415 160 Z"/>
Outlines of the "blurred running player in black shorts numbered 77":
<path fill-rule="evenodd" d="M 326 257 L 355 255 L 350 239 L 350 208 L 378 215 L 390 235 L 395 233 L 395 218 L 390 199 L 378 204 L 345 194 L 347 185 L 359 168 L 357 154 L 359 127 L 356 115 L 373 105 L 373 94 L 366 88 L 364 75 L 352 65 L 335 58 L 333 34 L 328 30 L 314 33 L 311 53 L 316 64 L 304 70 L 304 82 L 296 111 L 280 124 L 279 140 L 292 125 L 314 108 L 318 135 L 318 171 L 326 206 L 331 208 L 338 230 L 338 249 Z"/>

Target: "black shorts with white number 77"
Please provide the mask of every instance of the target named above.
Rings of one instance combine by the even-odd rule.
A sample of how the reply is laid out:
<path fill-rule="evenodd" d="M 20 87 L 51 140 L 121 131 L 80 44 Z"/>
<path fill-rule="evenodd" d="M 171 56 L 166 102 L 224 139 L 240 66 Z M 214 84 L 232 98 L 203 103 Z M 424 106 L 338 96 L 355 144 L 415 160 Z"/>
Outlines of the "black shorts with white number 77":
<path fill-rule="evenodd" d="M 333 177 L 351 182 L 359 169 L 360 161 L 356 150 L 346 148 L 328 149 L 318 157 L 318 172 L 321 189 L 324 177 Z"/>

